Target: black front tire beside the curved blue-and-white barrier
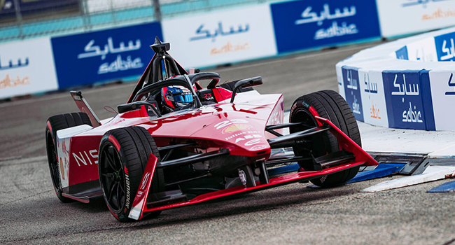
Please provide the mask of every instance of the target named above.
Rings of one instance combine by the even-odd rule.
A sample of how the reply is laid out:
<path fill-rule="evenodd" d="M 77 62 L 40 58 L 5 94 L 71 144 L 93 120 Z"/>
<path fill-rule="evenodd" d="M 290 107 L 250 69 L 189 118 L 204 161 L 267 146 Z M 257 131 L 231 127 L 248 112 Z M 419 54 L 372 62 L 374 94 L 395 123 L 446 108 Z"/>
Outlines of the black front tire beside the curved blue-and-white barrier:
<path fill-rule="evenodd" d="M 337 126 L 344 134 L 351 138 L 358 146 L 362 146 L 360 140 L 360 132 L 356 118 L 354 117 L 351 108 L 346 101 L 337 92 L 332 90 L 323 90 L 304 95 L 295 100 L 290 109 L 290 123 L 304 122 L 309 127 L 316 127 L 316 119 L 314 116 L 327 118 L 335 126 Z M 290 127 L 290 132 L 299 132 L 306 130 L 308 127 Z M 321 155 L 339 151 L 338 141 L 330 132 L 316 134 L 311 137 L 311 141 L 306 144 L 295 146 L 294 152 L 296 155 L 314 158 Z M 306 171 L 314 170 L 312 161 L 299 162 L 300 167 Z M 349 181 L 358 173 L 359 167 L 346 169 L 335 174 L 325 175 L 317 179 L 312 179 L 311 183 L 316 186 L 331 187 Z"/>

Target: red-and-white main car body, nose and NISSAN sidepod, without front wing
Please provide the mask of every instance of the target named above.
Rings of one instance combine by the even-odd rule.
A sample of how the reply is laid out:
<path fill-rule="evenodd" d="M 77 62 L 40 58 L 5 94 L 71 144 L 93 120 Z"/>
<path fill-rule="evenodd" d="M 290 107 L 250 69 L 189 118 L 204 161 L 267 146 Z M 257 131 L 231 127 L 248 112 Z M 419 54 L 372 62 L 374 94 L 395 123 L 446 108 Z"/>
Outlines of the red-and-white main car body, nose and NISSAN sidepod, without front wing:
<path fill-rule="evenodd" d="M 214 90 L 225 89 L 216 88 Z M 152 120 L 145 107 L 141 106 L 139 110 L 129 111 L 119 114 L 115 118 L 103 120 L 101 126 L 71 137 L 69 151 L 70 189 L 71 186 L 99 179 L 98 166 L 94 164 L 98 159 L 92 158 L 89 152 L 98 150 L 99 142 L 104 133 L 118 127 L 144 127 L 151 133 L 158 147 L 167 146 L 171 140 L 193 139 L 207 151 L 228 148 L 230 155 L 268 158 L 270 147 L 267 143 L 267 137 L 272 137 L 272 135 L 268 133 L 266 135 L 264 128 L 277 104 L 278 111 L 283 111 L 281 109 L 283 97 L 281 94 L 264 96 L 270 101 L 268 104 L 220 103 L 184 113 L 174 113 L 162 118 L 152 118 Z M 281 118 L 281 123 L 282 120 Z M 87 165 L 83 164 L 81 159 Z"/>

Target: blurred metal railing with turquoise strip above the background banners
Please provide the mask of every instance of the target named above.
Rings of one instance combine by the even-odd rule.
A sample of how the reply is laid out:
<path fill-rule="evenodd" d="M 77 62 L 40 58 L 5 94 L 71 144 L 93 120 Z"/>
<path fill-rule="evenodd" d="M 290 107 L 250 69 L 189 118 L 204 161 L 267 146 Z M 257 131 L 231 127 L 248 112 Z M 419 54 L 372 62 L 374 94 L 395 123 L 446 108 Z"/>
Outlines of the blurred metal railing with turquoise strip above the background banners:
<path fill-rule="evenodd" d="M 274 0 L 0 0 L 0 42 L 123 27 L 267 1 Z"/>

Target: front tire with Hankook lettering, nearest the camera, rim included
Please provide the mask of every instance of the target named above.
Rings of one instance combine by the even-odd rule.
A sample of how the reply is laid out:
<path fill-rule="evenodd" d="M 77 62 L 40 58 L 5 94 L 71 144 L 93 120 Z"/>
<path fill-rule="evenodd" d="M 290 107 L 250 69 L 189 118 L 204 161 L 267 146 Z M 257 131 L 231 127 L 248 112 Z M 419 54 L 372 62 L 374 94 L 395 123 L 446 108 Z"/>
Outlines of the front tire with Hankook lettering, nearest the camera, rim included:
<path fill-rule="evenodd" d="M 99 144 L 99 182 L 111 214 L 121 222 L 128 218 L 141 183 L 148 157 L 160 153 L 151 134 L 144 127 L 123 127 L 106 132 Z M 162 169 L 155 169 L 151 193 L 164 191 Z M 160 211 L 150 214 L 158 216 Z"/>

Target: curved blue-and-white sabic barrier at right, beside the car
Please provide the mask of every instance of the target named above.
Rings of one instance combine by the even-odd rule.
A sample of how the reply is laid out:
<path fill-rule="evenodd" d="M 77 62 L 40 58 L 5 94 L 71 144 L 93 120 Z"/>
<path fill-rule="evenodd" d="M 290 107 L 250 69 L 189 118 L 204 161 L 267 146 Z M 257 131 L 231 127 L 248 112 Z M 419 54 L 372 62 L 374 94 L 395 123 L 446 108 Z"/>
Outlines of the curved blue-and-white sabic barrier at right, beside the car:
<path fill-rule="evenodd" d="M 357 120 L 413 130 L 455 130 L 455 28 L 358 52 L 336 66 Z"/>

